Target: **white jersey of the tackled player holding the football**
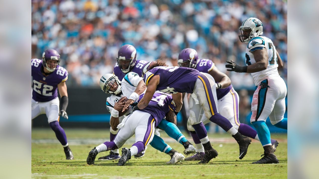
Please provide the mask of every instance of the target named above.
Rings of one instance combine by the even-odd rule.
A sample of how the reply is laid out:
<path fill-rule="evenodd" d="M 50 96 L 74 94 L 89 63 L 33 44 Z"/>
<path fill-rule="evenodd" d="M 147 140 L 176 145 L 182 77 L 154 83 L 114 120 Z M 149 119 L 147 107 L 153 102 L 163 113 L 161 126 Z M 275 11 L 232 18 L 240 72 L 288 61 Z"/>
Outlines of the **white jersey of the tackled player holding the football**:
<path fill-rule="evenodd" d="M 131 94 L 135 91 L 138 83 L 141 80 L 143 80 L 143 78 L 139 77 L 137 73 L 130 72 L 126 74 L 124 78 L 122 79 L 122 84 L 121 84 L 123 96 L 118 97 L 118 96 L 112 95 L 108 97 L 106 100 L 106 106 L 108 107 L 108 110 L 111 111 L 114 107 L 114 104 L 118 100 L 120 100 L 122 97 L 129 98 Z M 128 111 L 130 111 L 130 108 Z"/>

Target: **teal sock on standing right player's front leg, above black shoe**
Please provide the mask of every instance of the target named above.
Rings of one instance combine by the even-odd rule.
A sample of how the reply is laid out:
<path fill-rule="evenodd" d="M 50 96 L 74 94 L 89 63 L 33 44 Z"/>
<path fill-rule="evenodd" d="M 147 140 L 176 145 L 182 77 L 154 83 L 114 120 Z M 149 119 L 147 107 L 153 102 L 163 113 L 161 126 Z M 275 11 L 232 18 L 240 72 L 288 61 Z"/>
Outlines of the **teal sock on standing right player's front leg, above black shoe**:
<path fill-rule="evenodd" d="M 256 128 L 259 140 L 263 146 L 267 144 L 271 144 L 270 140 L 270 132 L 269 129 L 265 123 L 265 121 L 255 121 L 252 122 L 254 127 Z"/>

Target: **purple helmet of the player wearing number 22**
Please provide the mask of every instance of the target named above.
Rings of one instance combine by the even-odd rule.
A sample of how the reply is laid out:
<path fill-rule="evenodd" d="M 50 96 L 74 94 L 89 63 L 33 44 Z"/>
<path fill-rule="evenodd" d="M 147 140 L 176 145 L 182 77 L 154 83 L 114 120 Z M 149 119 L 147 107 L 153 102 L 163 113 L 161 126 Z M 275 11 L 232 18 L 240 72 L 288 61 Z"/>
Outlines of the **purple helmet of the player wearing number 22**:
<path fill-rule="evenodd" d="M 53 72 L 60 63 L 60 54 L 54 49 L 48 49 L 43 52 L 42 59 L 43 67 L 45 67 L 49 72 Z"/>

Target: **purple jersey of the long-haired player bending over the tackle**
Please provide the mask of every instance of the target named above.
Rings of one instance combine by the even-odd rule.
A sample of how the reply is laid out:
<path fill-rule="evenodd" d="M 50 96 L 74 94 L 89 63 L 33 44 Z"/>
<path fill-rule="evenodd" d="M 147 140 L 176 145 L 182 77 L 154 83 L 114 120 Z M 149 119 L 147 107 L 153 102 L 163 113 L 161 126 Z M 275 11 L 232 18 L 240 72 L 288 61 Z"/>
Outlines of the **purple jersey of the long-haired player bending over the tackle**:
<path fill-rule="evenodd" d="M 186 67 L 155 67 L 143 76 L 146 86 L 154 75 L 159 75 L 157 89 L 165 93 L 193 93 L 199 71 Z"/>

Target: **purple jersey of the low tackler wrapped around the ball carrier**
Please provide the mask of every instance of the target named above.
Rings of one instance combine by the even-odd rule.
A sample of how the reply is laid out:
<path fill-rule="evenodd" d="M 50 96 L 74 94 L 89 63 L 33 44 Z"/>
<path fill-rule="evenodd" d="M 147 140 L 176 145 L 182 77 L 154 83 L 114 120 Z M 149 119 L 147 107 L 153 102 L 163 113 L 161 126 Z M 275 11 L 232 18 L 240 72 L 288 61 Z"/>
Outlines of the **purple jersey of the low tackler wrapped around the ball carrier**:
<path fill-rule="evenodd" d="M 145 93 L 139 96 L 138 102 L 142 99 L 144 94 Z M 172 101 L 172 95 L 160 91 L 155 91 L 150 103 L 146 106 L 146 108 L 140 111 L 151 114 L 152 117 L 156 120 L 156 127 L 166 116 L 166 113 L 169 112 L 169 110 L 175 111 L 176 107 Z"/>

